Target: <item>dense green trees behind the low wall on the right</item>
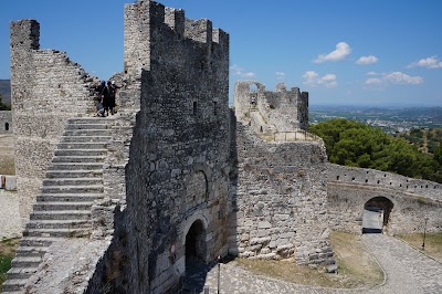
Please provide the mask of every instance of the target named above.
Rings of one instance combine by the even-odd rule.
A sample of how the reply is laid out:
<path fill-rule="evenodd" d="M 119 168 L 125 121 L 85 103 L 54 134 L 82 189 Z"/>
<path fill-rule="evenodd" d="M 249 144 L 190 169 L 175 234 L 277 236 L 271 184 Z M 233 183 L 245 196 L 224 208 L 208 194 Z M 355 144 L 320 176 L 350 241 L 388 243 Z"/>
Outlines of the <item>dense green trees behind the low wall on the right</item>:
<path fill-rule="evenodd" d="M 403 137 L 394 137 L 379 128 L 345 118 L 311 125 L 309 132 L 324 139 L 333 164 L 442 182 L 440 144 L 433 148 L 434 155 L 423 153 Z"/>

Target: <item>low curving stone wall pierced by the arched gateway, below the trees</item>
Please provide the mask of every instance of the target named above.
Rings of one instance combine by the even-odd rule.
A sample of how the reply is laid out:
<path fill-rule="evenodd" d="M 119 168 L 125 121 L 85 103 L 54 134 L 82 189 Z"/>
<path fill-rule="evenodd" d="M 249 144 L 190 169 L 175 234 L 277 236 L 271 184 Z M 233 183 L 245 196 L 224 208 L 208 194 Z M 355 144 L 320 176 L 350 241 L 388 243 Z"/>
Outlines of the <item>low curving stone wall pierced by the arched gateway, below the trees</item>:
<path fill-rule="evenodd" d="M 441 232 L 441 186 L 436 182 L 362 168 L 329 165 L 327 183 L 330 229 L 361 233 L 365 204 L 382 197 L 393 204 L 387 233 Z"/>

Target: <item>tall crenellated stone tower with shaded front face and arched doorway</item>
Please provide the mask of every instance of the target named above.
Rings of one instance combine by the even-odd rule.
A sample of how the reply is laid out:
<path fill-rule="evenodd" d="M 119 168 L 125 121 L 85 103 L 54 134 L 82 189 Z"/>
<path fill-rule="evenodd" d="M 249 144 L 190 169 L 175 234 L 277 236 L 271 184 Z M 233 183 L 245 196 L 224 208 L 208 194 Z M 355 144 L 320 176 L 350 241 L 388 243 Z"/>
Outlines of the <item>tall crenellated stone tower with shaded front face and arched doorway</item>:
<path fill-rule="evenodd" d="M 229 35 L 182 10 L 126 4 L 125 71 L 140 81 L 125 169 L 128 293 L 165 293 L 185 274 L 194 222 L 197 258 L 228 250 Z"/>

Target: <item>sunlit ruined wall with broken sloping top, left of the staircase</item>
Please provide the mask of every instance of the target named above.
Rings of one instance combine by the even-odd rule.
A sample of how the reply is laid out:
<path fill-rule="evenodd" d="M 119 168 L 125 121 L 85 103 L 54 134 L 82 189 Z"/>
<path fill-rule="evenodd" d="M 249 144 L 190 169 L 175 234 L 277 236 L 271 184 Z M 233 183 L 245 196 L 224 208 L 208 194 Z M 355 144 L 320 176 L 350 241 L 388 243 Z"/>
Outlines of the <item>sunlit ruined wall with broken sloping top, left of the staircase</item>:
<path fill-rule="evenodd" d="M 93 112 L 92 77 L 64 52 L 40 50 L 40 24 L 11 23 L 11 93 L 20 216 L 29 218 L 69 117 Z"/>

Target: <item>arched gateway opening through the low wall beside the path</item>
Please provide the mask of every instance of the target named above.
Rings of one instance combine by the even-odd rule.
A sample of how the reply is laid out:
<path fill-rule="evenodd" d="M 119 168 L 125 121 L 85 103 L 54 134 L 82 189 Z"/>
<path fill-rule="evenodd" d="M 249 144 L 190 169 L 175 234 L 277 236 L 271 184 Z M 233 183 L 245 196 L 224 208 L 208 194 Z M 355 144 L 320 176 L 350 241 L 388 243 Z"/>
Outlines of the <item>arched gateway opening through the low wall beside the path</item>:
<path fill-rule="evenodd" d="M 388 230 L 393 203 L 386 197 L 375 197 L 364 206 L 362 233 L 382 233 Z"/>

